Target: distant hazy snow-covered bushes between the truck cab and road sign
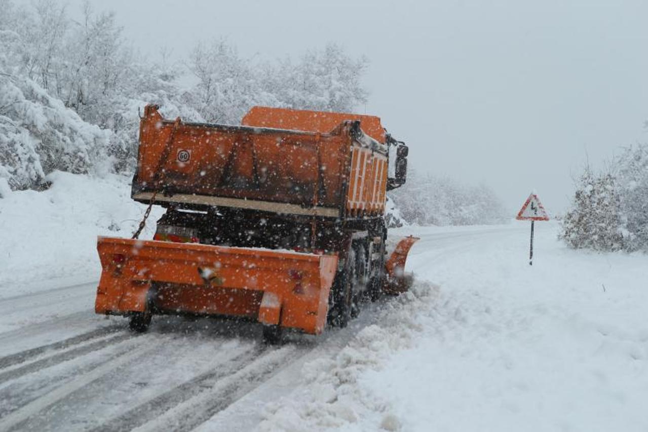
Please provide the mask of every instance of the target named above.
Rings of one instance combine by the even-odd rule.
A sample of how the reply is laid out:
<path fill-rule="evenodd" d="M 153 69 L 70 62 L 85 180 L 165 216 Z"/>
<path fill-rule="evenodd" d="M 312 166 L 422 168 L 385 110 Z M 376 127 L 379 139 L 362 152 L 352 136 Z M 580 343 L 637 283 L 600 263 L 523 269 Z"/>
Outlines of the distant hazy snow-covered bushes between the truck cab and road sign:
<path fill-rule="evenodd" d="M 400 216 L 417 225 L 490 225 L 507 219 L 500 199 L 484 185 L 408 172 L 404 186 L 389 192 Z"/>

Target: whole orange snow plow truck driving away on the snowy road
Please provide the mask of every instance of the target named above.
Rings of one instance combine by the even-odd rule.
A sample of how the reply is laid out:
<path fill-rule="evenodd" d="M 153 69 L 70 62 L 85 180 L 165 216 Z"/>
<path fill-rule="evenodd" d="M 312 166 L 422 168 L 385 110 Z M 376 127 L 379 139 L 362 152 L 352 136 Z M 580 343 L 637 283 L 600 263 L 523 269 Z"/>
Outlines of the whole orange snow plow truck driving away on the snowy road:
<path fill-rule="evenodd" d="M 255 107 L 228 126 L 146 106 L 132 198 L 148 210 L 133 238 L 98 238 L 95 311 L 140 332 L 155 314 L 247 318 L 269 342 L 345 326 L 363 299 L 408 288 L 417 238 L 387 256 L 384 222 L 407 154 L 378 117 Z M 166 212 L 139 240 L 152 205 Z"/>

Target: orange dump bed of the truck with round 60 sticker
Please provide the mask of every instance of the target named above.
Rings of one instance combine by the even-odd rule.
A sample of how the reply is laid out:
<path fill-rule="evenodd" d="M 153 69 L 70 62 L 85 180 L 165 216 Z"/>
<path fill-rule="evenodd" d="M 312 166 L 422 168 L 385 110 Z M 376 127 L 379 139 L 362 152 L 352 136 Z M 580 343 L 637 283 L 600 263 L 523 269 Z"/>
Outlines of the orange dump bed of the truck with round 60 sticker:
<path fill-rule="evenodd" d="M 336 218 L 384 212 L 387 146 L 362 129 L 384 141 L 378 117 L 257 107 L 244 123 L 174 122 L 147 106 L 133 199 L 148 203 L 161 168 L 158 203 Z"/>

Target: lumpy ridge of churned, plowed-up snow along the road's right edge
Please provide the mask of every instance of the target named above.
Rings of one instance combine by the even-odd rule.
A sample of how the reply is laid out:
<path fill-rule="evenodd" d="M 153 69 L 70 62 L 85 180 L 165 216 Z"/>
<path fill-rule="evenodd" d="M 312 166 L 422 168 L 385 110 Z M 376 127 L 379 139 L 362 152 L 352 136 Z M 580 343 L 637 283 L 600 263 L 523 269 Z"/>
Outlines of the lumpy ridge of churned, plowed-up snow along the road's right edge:
<path fill-rule="evenodd" d="M 303 385 L 290 398 L 265 407 L 261 431 L 303 431 L 347 428 L 398 430 L 400 420 L 391 404 L 358 381 L 370 370 L 381 370 L 396 350 L 413 347 L 422 330 L 415 317 L 434 302 L 437 288 L 419 282 L 409 293 L 389 299 L 372 324 L 332 358 L 307 363 Z M 362 427 L 361 427 L 362 426 Z"/>

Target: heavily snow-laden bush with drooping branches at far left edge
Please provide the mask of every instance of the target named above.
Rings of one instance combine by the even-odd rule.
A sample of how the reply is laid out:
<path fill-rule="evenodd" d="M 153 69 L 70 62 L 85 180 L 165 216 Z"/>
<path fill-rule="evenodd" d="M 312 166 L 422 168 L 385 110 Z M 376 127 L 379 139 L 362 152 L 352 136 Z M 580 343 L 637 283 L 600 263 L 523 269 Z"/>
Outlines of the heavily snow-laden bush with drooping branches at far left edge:
<path fill-rule="evenodd" d="M 16 73 L 22 40 L 0 31 L 0 177 L 12 189 L 38 185 L 49 172 L 105 170 L 110 133 Z"/>

